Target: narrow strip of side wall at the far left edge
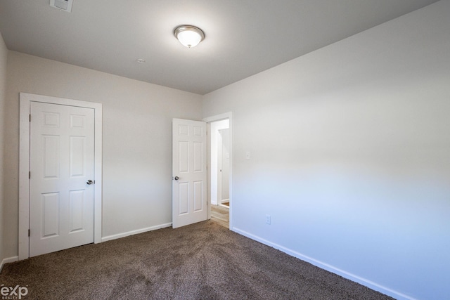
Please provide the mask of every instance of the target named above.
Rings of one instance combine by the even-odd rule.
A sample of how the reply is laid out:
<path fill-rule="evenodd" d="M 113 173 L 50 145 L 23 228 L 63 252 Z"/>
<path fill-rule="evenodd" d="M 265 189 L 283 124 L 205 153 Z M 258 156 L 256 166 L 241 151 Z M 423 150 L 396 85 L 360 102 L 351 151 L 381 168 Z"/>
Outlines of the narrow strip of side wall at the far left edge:
<path fill-rule="evenodd" d="M 4 254 L 4 217 L 3 217 L 3 207 L 4 207 L 4 120 L 6 112 L 4 110 L 6 103 L 6 62 L 8 59 L 8 49 L 6 48 L 3 37 L 0 33 L 0 261 L 2 261 L 5 256 Z"/>

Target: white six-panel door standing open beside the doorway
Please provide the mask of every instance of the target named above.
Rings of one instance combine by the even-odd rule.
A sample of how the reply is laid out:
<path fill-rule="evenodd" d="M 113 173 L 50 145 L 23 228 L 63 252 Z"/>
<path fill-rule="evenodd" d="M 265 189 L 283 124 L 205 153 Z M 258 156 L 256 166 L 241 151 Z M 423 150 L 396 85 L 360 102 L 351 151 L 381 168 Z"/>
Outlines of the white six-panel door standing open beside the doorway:
<path fill-rule="evenodd" d="M 207 219 L 206 123 L 172 122 L 172 227 Z"/>

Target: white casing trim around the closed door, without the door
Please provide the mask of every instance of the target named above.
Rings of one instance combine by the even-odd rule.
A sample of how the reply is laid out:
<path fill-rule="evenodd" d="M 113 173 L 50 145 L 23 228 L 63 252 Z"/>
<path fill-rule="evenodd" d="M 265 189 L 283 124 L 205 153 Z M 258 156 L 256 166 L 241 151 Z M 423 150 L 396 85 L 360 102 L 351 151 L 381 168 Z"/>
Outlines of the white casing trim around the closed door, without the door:
<path fill-rule="evenodd" d="M 20 93 L 19 136 L 19 234 L 18 259 L 30 257 L 30 104 L 31 102 L 94 109 L 94 243 L 101 242 L 102 225 L 102 104 L 67 98 Z"/>

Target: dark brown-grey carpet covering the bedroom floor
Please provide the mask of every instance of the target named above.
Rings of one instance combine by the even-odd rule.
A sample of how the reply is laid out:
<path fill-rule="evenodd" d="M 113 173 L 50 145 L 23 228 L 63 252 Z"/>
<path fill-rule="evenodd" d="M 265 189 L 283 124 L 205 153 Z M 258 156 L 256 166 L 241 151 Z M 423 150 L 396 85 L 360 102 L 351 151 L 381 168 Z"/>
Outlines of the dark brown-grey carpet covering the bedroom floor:
<path fill-rule="evenodd" d="M 211 221 L 7 263 L 23 299 L 392 299 Z"/>

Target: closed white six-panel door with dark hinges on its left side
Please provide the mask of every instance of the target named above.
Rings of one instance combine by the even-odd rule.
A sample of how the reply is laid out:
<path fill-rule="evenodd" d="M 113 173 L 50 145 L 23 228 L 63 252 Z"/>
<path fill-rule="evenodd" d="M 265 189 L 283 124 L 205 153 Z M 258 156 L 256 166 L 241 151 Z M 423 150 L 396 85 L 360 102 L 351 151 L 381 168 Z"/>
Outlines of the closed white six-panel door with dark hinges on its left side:
<path fill-rule="evenodd" d="M 37 256 L 94 242 L 94 109 L 30 104 L 30 256 Z"/>

